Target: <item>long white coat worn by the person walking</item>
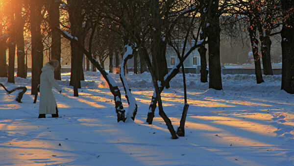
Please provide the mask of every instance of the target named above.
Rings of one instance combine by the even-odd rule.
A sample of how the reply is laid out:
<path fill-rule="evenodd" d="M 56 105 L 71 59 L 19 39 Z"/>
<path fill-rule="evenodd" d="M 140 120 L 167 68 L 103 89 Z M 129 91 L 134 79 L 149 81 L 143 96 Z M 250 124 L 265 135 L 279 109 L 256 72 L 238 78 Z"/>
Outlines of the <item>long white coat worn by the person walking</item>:
<path fill-rule="evenodd" d="M 42 68 L 42 74 L 40 77 L 40 106 L 39 114 L 55 114 L 56 113 L 56 101 L 52 93 L 52 86 L 58 91 L 61 91 L 61 87 L 54 80 L 54 67 L 49 63 Z"/>

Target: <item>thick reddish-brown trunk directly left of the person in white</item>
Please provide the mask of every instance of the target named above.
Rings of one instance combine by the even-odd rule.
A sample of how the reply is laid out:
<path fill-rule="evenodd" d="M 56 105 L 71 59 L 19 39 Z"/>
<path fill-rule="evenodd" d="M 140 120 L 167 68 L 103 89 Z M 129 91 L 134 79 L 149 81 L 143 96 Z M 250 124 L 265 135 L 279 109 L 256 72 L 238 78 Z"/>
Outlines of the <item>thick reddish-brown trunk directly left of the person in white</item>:
<path fill-rule="evenodd" d="M 32 95 L 38 94 L 38 84 L 40 84 L 41 69 L 43 67 L 43 43 L 41 35 L 41 10 L 43 4 L 40 1 L 30 0 L 30 21 L 32 38 Z"/>

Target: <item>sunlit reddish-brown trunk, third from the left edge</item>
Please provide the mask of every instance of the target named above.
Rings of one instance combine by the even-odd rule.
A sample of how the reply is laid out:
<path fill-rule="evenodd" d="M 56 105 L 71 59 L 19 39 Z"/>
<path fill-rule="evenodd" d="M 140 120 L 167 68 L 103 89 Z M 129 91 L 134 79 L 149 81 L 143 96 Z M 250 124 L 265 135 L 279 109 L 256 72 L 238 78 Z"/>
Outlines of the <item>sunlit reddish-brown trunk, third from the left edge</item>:
<path fill-rule="evenodd" d="M 24 38 L 24 26 L 25 20 L 22 17 L 22 5 L 20 2 L 16 4 L 16 44 L 17 44 L 17 76 L 26 78 L 26 67 L 25 67 L 25 38 Z"/>

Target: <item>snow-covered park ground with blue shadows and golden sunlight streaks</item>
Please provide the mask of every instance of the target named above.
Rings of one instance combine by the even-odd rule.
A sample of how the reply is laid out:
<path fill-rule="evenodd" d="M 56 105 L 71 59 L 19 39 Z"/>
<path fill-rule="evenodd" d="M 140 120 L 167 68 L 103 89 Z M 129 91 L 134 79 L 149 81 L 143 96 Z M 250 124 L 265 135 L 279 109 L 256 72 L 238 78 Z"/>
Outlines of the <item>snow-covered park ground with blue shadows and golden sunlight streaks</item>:
<path fill-rule="evenodd" d="M 62 94 L 54 90 L 61 118 L 38 119 L 30 78 L 7 83 L 28 88 L 22 101 L 0 88 L 0 165 L 294 165 L 294 95 L 280 90 L 281 76 L 222 76 L 223 92 L 208 89 L 200 75 L 187 74 L 186 136 L 171 139 L 158 115 L 146 121 L 153 94 L 150 75 L 127 74 L 137 100 L 135 122 L 117 123 L 113 96 L 99 73 L 85 72 L 79 97 L 70 74 L 62 74 Z M 122 86 L 119 75 L 111 77 Z M 174 129 L 183 109 L 181 75 L 162 94 Z M 124 96 L 121 87 L 122 97 Z M 127 103 L 123 97 L 127 110 Z"/>

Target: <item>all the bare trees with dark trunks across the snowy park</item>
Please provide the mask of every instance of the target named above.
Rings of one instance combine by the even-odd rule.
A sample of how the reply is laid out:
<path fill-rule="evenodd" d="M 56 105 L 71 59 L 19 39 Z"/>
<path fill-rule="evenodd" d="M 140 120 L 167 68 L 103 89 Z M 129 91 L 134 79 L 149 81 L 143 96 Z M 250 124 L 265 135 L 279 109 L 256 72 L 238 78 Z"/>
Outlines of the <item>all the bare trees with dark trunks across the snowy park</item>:
<path fill-rule="evenodd" d="M 78 96 L 80 81 L 84 80 L 82 60 L 85 55 L 109 84 L 118 121 L 134 120 L 138 108 L 124 72 L 127 60 L 135 57 L 134 64 L 140 59 L 142 71 L 148 68 L 155 89 L 147 122 L 152 123 L 158 105 L 159 114 L 166 122 L 172 138 L 184 133 L 188 104 L 185 100 L 181 127 L 176 134 L 163 110 L 161 93 L 164 88 L 170 87 L 170 80 L 180 69 L 185 86 L 183 62 L 196 49 L 201 58 L 201 82 L 208 82 L 209 70 L 209 88 L 221 90 L 221 35 L 250 39 L 256 80 L 262 83 L 260 58 L 263 59 L 264 74 L 272 75 L 270 37 L 280 34 L 283 52 L 281 89 L 294 93 L 292 0 L 7 0 L 0 7 L 0 77 L 7 77 L 5 66 L 8 48 L 8 82 L 14 82 L 14 53 L 17 46 L 18 76 L 25 78 L 26 29 L 25 34 L 31 37 L 31 93 L 36 94 L 43 67 L 45 36 L 49 36 L 51 58 L 59 61 L 63 36 L 71 43 L 70 85 L 73 86 L 73 95 Z M 192 47 L 186 47 L 188 42 L 193 43 Z M 174 49 L 179 59 L 170 72 L 166 63 L 167 46 Z M 208 46 L 208 50 L 205 46 Z M 262 55 L 259 55 L 259 51 Z M 121 63 L 118 61 L 120 54 Z M 113 56 L 116 59 L 115 66 L 121 66 L 121 81 L 129 104 L 126 114 L 120 89 L 104 69 L 105 55 L 110 59 L 110 72 L 113 72 Z M 88 69 L 89 64 L 87 62 Z M 60 68 L 55 71 L 55 79 L 61 79 Z M 185 87 L 184 90 L 186 92 Z"/>

